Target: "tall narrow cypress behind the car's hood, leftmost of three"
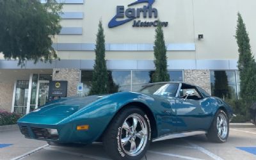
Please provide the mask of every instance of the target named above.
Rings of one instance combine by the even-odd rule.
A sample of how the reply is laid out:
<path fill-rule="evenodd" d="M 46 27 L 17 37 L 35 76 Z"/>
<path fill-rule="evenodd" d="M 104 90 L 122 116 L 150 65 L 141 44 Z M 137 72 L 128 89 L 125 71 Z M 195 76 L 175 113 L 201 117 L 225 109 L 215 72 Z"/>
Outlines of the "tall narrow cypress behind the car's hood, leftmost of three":
<path fill-rule="evenodd" d="M 102 22 L 99 22 L 97 40 L 95 46 L 95 65 L 92 77 L 92 88 L 89 95 L 108 93 L 108 70 L 105 60 L 105 36 Z"/>

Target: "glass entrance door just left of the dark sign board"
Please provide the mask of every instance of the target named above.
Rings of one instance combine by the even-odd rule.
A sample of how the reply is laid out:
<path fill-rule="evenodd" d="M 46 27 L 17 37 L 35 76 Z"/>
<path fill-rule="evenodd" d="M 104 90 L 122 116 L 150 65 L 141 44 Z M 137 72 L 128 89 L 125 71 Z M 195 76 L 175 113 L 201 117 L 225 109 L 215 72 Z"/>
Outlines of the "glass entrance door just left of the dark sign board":
<path fill-rule="evenodd" d="M 38 88 L 37 88 L 37 108 L 40 106 L 44 106 L 45 103 L 48 102 L 49 97 L 49 81 L 38 81 Z"/>

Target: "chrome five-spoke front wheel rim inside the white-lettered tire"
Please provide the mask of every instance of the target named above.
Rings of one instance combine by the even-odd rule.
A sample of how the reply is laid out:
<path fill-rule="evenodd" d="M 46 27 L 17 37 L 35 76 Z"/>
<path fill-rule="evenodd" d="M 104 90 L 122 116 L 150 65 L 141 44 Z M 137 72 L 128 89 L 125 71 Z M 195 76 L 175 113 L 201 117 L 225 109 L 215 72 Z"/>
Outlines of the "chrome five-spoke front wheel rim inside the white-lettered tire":
<path fill-rule="evenodd" d="M 121 130 L 121 144 L 124 152 L 129 156 L 138 156 L 148 140 L 147 122 L 143 116 L 134 113 L 128 116 Z"/>

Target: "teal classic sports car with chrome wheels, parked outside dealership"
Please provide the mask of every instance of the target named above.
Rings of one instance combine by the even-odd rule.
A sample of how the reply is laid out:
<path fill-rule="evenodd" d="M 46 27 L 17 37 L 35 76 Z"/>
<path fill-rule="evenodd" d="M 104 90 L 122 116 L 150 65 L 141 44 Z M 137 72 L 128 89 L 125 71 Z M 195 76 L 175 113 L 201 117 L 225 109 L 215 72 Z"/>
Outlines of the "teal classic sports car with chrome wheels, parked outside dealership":
<path fill-rule="evenodd" d="M 141 159 L 151 141 L 206 134 L 228 138 L 232 109 L 202 88 L 186 83 L 154 83 L 140 92 L 55 100 L 20 118 L 26 138 L 90 144 L 102 141 L 113 159 Z"/>

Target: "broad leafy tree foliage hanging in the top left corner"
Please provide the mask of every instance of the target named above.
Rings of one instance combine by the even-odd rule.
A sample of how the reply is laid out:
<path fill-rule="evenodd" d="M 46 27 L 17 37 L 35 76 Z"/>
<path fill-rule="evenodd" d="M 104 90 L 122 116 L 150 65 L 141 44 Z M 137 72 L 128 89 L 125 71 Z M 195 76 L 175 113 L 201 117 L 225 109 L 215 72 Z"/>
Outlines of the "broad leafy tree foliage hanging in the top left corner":
<path fill-rule="evenodd" d="M 52 36 L 60 33 L 62 4 L 56 0 L 0 0 L 0 52 L 4 58 L 52 61 Z"/>

